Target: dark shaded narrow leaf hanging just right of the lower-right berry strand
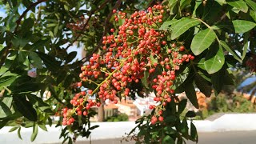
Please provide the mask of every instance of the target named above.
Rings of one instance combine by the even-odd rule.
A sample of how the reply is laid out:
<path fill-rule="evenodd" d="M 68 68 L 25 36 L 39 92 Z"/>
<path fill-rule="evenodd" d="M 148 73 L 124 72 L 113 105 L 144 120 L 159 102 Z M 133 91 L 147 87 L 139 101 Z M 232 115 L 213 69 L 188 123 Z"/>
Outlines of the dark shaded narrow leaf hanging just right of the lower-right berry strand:
<path fill-rule="evenodd" d="M 198 98 L 197 98 L 197 95 L 195 94 L 193 84 L 187 83 L 185 87 L 186 87 L 186 89 L 185 89 L 186 97 L 189 98 L 189 100 L 193 104 L 193 106 L 198 109 L 199 108 Z"/>

